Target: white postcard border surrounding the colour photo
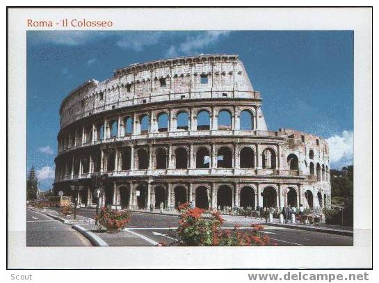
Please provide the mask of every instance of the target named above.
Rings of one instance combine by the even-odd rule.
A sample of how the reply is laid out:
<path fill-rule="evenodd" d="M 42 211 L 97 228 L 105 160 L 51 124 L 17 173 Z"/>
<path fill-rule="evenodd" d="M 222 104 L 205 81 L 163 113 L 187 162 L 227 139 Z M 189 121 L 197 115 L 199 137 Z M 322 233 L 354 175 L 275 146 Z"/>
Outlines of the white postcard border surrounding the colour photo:
<path fill-rule="evenodd" d="M 113 30 L 354 30 L 353 247 L 26 248 L 26 18 L 104 18 Z M 145 19 L 149 19 L 146 21 Z M 372 93 L 370 8 L 9 10 L 9 268 L 370 268 Z M 33 29 L 38 30 L 38 29 Z M 83 30 L 83 29 L 80 29 Z M 111 30 L 111 29 L 108 29 Z M 58 113 L 57 113 L 58 115 Z M 359 207 L 359 210 L 357 209 Z"/>

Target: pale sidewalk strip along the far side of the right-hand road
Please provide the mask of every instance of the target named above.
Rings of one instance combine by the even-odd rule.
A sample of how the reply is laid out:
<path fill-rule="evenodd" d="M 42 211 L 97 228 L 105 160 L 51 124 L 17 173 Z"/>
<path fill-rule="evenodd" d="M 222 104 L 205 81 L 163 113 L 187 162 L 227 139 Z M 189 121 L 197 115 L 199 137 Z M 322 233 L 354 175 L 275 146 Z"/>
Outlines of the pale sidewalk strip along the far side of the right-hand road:
<path fill-rule="evenodd" d="M 279 219 L 273 218 L 272 223 L 266 223 L 266 220 L 260 220 L 260 218 L 255 217 L 244 217 L 244 216 L 229 216 L 222 215 L 225 221 L 235 222 L 235 223 L 255 223 L 262 224 L 268 226 L 276 226 L 276 227 L 286 227 L 290 229 L 302 229 L 313 232 L 324 232 L 328 234 L 338 234 L 345 236 L 353 236 L 353 227 L 346 227 L 341 225 L 326 225 L 326 224 L 318 224 L 318 225 L 306 225 L 303 223 L 288 223 L 281 224 L 279 223 Z"/>

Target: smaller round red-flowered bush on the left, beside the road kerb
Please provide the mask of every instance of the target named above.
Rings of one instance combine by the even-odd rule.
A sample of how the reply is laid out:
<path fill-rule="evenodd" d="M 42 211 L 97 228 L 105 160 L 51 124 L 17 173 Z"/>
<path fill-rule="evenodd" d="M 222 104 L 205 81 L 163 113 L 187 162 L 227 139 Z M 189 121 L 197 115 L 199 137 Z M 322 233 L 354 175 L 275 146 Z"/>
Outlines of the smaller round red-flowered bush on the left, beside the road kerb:
<path fill-rule="evenodd" d="M 131 211 L 114 211 L 107 207 L 102 207 L 99 216 L 96 216 L 99 224 L 106 229 L 118 230 L 124 228 L 130 221 Z"/>

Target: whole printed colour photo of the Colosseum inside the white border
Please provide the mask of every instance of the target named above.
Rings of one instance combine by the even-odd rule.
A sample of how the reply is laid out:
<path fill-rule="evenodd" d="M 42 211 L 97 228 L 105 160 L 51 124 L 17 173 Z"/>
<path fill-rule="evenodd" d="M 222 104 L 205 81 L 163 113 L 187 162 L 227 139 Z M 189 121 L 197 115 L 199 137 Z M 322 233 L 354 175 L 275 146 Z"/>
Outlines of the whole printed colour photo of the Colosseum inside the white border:
<path fill-rule="evenodd" d="M 56 78 L 38 85 L 39 75 L 28 73 L 37 81 L 35 93 L 48 90 L 51 96 L 44 102 L 45 111 L 28 108 L 31 119 L 51 117 L 38 127 L 39 142 L 31 143 L 49 157 L 51 165 L 42 166 L 47 161 L 29 154 L 28 245 L 94 245 L 94 241 L 95 245 L 217 245 L 236 229 L 246 238 L 249 233 L 260 237 L 255 243 L 249 238 L 245 245 L 353 245 L 352 220 L 348 223 L 352 207 L 349 210 L 347 197 L 337 202 L 341 197 L 332 188 L 338 178 L 352 172 L 352 152 L 342 152 L 341 167 L 332 168 L 335 152 L 330 145 L 338 148 L 339 138 L 352 143 L 352 87 L 339 77 L 341 69 L 346 76 L 353 72 L 351 33 L 181 32 L 182 42 L 172 43 L 173 36 L 159 31 L 28 32 L 30 65 Z M 159 55 L 156 50 L 163 47 L 165 37 L 171 40 L 165 47 L 170 52 Z M 248 42 L 235 47 L 249 38 L 266 43 L 260 49 Z M 190 48 L 193 42 L 197 45 Z M 112 57 L 111 44 L 124 48 L 118 54 L 124 52 L 122 58 L 129 63 Z M 264 47 L 275 48 L 271 45 L 277 49 L 267 52 Z M 295 51 L 278 53 L 285 49 Z M 348 60 L 339 57 L 341 52 L 350 56 Z M 286 68 L 275 65 L 270 58 L 275 56 L 286 58 Z M 315 61 L 325 60 L 324 65 L 309 62 L 312 56 Z M 111 62 L 105 59 L 111 57 Z M 261 64 L 268 68 L 255 68 L 254 60 L 262 58 L 267 63 Z M 329 66 L 328 60 L 336 63 Z M 305 75 L 300 82 L 291 72 L 298 68 L 302 77 L 302 67 L 312 76 Z M 258 79 L 257 87 L 254 78 L 259 72 L 266 77 Z M 323 72 L 334 84 L 320 86 Z M 92 79 L 97 75 L 102 79 Z M 285 98 L 292 89 L 281 89 L 284 80 L 298 81 L 300 89 L 309 84 L 303 92 Z M 337 86 L 338 80 L 343 87 Z M 275 89 L 264 92 L 268 84 Z M 316 85 L 320 91 L 311 90 Z M 65 93 L 54 91 L 55 87 Z M 296 89 L 296 84 L 291 88 Z M 321 88 L 345 95 L 347 102 L 330 99 L 314 106 L 317 110 L 303 104 L 291 111 L 290 104 L 302 105 L 298 102 L 307 91 L 312 92 L 312 102 L 313 97 L 328 94 Z M 271 107 L 274 90 L 276 108 Z M 28 99 L 38 100 L 38 95 L 28 93 Z M 332 122 L 317 124 L 321 115 Z M 341 116 L 340 124 L 334 115 Z M 268 127 L 271 118 L 281 126 Z M 337 128 L 351 131 L 341 131 L 336 138 L 332 129 Z M 44 131 L 46 140 L 56 140 L 43 145 Z M 29 133 L 28 138 L 33 138 L 35 130 Z M 352 190 L 351 185 L 351 197 Z M 352 203 L 352 198 L 348 200 Z M 40 224 L 33 222 L 32 214 L 37 212 L 63 223 L 36 227 Z M 205 223 L 221 218 L 218 228 L 229 232 L 219 233 L 217 242 L 214 237 L 189 241 L 179 220 L 191 216 Z M 57 230 L 60 235 L 67 233 L 60 236 L 64 241 L 54 241 Z"/>

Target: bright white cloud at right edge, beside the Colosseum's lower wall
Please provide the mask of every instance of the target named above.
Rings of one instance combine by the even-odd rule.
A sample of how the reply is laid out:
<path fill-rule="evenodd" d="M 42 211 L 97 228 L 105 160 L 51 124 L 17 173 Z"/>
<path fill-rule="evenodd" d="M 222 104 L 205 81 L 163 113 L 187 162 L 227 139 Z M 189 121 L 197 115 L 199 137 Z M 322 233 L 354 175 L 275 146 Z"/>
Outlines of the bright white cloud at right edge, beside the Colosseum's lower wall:
<path fill-rule="evenodd" d="M 330 163 L 334 166 L 353 163 L 353 131 L 343 131 L 327 139 L 329 144 Z"/>

